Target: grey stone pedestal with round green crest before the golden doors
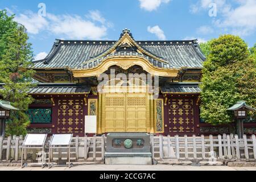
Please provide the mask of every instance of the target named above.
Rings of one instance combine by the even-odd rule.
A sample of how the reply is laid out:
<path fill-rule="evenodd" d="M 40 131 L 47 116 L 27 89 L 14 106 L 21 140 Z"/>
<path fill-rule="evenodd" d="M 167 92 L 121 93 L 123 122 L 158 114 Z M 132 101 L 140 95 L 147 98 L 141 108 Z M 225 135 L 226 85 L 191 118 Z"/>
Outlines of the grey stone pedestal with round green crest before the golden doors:
<path fill-rule="evenodd" d="M 105 164 L 152 165 L 150 135 L 143 133 L 108 134 Z"/>

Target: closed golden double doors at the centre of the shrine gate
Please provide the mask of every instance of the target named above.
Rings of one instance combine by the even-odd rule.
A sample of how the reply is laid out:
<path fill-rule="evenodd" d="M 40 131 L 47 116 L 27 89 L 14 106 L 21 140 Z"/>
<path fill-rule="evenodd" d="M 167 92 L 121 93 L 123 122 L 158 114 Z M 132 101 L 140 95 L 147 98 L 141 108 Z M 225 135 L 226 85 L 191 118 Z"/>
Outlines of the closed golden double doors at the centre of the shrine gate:
<path fill-rule="evenodd" d="M 103 94 L 102 121 L 105 132 L 149 132 L 146 93 Z"/>

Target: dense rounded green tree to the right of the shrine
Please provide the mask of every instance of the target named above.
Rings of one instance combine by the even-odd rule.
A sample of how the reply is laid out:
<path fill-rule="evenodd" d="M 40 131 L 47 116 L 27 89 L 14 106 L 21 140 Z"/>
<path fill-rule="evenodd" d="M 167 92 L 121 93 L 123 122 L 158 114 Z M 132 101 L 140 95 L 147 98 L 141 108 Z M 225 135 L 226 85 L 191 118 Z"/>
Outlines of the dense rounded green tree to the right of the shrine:
<path fill-rule="evenodd" d="M 230 123 L 233 114 L 226 109 L 237 101 L 255 107 L 255 61 L 243 40 L 233 35 L 212 40 L 209 50 L 200 85 L 201 118 L 214 125 Z"/>

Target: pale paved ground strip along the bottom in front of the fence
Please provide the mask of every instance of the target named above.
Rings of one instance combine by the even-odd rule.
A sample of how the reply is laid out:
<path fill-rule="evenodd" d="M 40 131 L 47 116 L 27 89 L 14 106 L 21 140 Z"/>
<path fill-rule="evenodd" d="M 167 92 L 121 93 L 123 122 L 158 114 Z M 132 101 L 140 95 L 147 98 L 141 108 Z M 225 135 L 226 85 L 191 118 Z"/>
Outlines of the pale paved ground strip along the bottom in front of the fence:
<path fill-rule="evenodd" d="M 68 167 L 0 167 L 0 171 L 256 171 L 256 167 L 228 167 L 228 166 L 178 166 L 158 164 L 154 166 L 134 166 L 134 165 L 104 165 L 104 164 L 85 164 Z"/>

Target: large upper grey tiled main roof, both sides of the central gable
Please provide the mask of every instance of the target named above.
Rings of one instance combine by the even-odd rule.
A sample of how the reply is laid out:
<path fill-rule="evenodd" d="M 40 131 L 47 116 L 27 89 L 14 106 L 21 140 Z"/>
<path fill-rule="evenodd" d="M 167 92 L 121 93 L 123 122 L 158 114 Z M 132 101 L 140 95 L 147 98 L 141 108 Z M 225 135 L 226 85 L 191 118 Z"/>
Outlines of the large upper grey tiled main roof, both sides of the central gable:
<path fill-rule="evenodd" d="M 56 40 L 53 48 L 43 60 L 34 61 L 34 69 L 55 68 L 63 69 L 66 67 L 77 68 L 94 67 L 101 59 L 89 60 L 98 57 L 108 51 L 117 41 L 88 41 L 88 40 Z M 201 68 L 205 57 L 201 53 L 196 40 L 180 41 L 136 41 L 145 51 L 165 60 L 166 65 L 155 61 L 158 67 L 167 68 Z M 153 63 L 154 64 L 154 61 Z"/>

